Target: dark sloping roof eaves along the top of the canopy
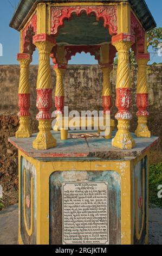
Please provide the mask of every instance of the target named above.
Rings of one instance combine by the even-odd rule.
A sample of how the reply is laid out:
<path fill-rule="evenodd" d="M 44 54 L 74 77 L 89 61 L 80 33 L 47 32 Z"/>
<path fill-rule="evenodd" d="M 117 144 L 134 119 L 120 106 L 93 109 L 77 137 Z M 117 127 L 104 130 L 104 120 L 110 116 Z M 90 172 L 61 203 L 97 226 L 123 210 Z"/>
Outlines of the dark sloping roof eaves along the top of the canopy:
<path fill-rule="evenodd" d="M 27 15 L 30 13 L 30 11 L 34 10 L 37 3 L 40 2 L 64 2 L 66 5 L 67 2 L 82 2 L 82 0 L 20 0 L 20 3 L 18 4 L 15 14 L 10 22 L 10 27 L 20 31 L 21 25 Z M 134 13 L 138 16 L 140 22 L 144 26 L 145 31 L 149 31 L 150 29 L 156 27 L 156 23 L 147 7 L 147 4 L 145 3 L 145 0 L 84 0 L 84 2 L 129 2 Z"/>

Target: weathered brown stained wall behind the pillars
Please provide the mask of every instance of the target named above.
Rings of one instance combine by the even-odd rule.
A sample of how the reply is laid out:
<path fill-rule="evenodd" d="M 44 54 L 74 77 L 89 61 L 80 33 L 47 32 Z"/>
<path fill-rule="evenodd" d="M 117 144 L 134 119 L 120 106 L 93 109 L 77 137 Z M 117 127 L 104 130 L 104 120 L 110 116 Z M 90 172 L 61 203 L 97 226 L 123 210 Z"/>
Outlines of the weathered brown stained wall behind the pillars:
<path fill-rule="evenodd" d="M 36 109 L 36 79 L 38 66 L 30 66 L 30 84 L 31 84 L 31 114 L 35 116 Z M 55 89 L 56 76 L 52 71 L 53 84 Z M 134 131 L 137 125 L 135 112 L 135 90 L 137 87 L 137 66 L 131 66 L 132 86 L 133 86 L 133 106 L 131 112 L 134 115 L 131 121 L 131 130 Z M 161 135 L 162 119 L 162 65 L 148 66 L 148 88 L 149 88 L 149 127 L 154 135 Z M 0 113 L 18 112 L 17 107 L 17 90 L 20 75 L 18 65 L 0 66 Z M 115 108 L 115 83 L 116 67 L 111 75 L 113 88 L 113 115 Z M 98 65 L 69 65 L 64 74 L 64 88 L 66 96 L 66 106 L 69 109 L 81 110 L 99 110 L 101 108 L 102 93 L 102 72 Z M 54 108 L 53 108 L 54 109 Z M 160 148 L 159 148 L 160 149 Z"/>

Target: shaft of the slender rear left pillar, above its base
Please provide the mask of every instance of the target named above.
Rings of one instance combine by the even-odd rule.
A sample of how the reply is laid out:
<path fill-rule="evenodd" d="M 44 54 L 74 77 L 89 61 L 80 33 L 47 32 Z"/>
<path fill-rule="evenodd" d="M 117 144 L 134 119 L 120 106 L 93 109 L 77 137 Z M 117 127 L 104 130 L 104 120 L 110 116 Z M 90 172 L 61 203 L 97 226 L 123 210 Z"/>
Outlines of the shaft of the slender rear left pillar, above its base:
<path fill-rule="evenodd" d="M 66 66 L 55 65 L 54 70 L 56 72 L 56 90 L 55 90 L 55 114 L 63 114 L 64 108 L 64 87 L 63 87 L 63 73 L 66 69 Z"/>

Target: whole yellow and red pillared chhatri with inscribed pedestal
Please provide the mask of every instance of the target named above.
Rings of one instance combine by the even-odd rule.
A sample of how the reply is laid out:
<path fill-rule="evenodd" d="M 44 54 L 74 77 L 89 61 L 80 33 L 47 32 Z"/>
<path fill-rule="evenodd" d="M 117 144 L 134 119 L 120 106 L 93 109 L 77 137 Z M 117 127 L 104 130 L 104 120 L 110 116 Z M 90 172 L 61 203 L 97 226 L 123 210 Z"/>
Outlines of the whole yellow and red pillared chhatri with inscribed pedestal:
<path fill-rule="evenodd" d="M 145 1 L 21 0 L 10 26 L 20 32 L 20 127 L 9 138 L 19 156 L 19 243 L 147 243 L 149 156 L 158 138 L 151 136 L 147 126 L 147 31 L 156 24 Z M 36 48 L 39 132 L 33 134 L 29 65 Z M 135 118 L 130 110 L 131 49 L 138 64 L 134 133 L 129 132 Z M 111 113 L 110 75 L 118 53 L 118 126 L 111 116 L 107 136 L 100 130 L 68 131 L 69 123 L 59 128 L 59 118 L 64 115 L 63 74 L 72 56 L 81 52 L 95 56 L 103 72 L 104 116 Z M 56 72 L 55 94 L 50 58 Z"/>

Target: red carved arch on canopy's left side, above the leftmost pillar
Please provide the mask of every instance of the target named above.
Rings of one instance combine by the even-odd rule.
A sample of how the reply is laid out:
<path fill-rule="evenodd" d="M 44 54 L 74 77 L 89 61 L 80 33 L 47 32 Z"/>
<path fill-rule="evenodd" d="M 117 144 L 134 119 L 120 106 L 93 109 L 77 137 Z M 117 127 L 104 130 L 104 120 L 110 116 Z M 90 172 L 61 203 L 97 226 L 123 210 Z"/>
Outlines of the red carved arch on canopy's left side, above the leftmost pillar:
<path fill-rule="evenodd" d="M 22 31 L 23 53 L 33 54 L 35 45 L 33 44 L 33 36 L 37 32 L 37 15 L 33 15 L 27 26 Z"/>

